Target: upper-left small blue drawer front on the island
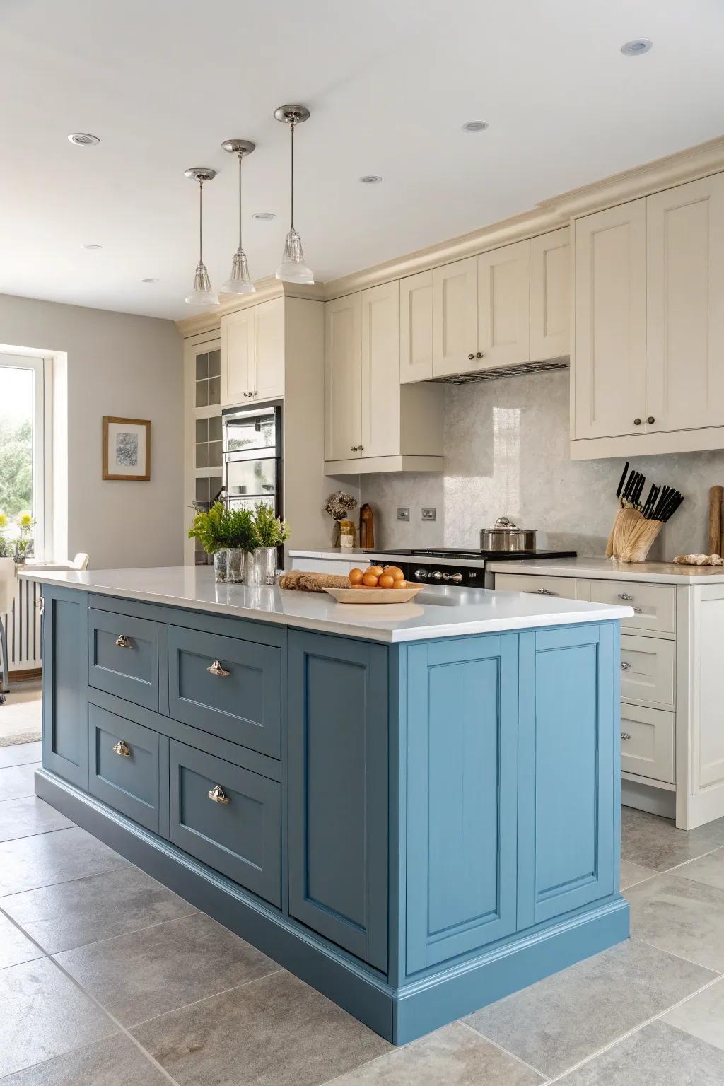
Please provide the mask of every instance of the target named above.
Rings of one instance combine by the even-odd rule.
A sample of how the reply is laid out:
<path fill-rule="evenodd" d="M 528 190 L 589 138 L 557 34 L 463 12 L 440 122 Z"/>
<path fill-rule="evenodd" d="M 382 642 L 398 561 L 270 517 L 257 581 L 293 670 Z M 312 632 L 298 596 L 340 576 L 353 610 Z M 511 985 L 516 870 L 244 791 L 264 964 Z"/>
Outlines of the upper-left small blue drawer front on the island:
<path fill-rule="evenodd" d="M 157 710 L 157 623 L 89 608 L 88 683 L 147 709 Z"/>

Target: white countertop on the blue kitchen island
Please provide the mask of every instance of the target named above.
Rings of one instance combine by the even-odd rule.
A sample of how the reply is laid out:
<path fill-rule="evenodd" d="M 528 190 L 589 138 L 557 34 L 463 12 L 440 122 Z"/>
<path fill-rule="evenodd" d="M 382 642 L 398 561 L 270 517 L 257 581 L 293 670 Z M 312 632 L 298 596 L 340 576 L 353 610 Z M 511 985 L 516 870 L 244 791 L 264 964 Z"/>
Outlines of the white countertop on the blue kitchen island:
<path fill-rule="evenodd" d="M 423 641 L 461 634 L 525 630 L 628 618 L 631 607 L 484 589 L 425 586 L 408 604 L 338 604 L 328 593 L 245 584 L 216 584 L 209 566 L 157 569 L 31 569 L 24 580 L 42 581 L 102 595 L 169 604 L 228 617 L 322 630 L 370 641 Z"/>

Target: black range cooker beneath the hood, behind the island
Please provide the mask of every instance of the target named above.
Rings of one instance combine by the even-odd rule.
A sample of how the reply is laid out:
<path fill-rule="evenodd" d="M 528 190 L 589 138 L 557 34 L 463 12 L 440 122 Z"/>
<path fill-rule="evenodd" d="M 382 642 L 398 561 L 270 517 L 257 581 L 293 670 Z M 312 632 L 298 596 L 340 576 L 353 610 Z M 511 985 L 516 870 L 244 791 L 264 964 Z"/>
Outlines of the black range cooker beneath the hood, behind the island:
<path fill-rule="evenodd" d="M 492 589 L 495 577 L 487 569 L 491 561 L 521 561 L 526 558 L 575 558 L 575 551 L 475 551 L 466 548 L 365 551 L 380 565 L 395 556 L 405 580 L 460 588 Z M 405 560 L 397 560 L 404 556 Z M 409 560 L 407 560 L 409 558 Z"/>

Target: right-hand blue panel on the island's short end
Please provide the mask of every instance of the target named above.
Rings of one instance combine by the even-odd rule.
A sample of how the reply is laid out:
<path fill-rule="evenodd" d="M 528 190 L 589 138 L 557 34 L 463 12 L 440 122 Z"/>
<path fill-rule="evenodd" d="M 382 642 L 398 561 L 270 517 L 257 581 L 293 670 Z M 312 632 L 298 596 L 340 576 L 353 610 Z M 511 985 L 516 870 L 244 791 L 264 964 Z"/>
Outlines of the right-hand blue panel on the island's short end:
<path fill-rule="evenodd" d="M 615 889 L 615 636 L 612 622 L 520 635 L 519 929 Z"/>

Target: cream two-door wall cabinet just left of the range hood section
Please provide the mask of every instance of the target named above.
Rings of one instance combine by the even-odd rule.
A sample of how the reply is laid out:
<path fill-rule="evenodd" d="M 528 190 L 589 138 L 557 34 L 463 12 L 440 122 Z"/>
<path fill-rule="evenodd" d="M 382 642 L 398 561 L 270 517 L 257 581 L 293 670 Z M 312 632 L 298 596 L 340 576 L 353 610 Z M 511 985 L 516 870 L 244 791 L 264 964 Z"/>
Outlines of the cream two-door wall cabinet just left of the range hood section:
<path fill-rule="evenodd" d="M 442 389 L 401 384 L 399 283 L 328 302 L 325 319 L 326 472 L 441 470 Z"/>

